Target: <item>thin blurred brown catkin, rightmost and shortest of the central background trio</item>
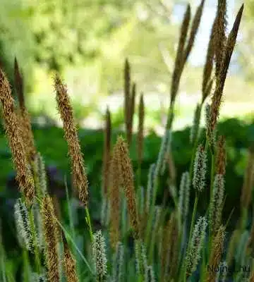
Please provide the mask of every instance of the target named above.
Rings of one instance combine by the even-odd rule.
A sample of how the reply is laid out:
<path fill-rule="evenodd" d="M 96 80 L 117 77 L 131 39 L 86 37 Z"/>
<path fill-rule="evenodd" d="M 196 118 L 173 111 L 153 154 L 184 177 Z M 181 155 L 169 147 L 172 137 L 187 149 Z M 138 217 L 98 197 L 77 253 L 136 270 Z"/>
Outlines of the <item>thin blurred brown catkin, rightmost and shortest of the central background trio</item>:
<path fill-rule="evenodd" d="M 140 103 L 138 107 L 138 164 L 142 163 L 143 159 L 143 142 L 144 142 L 144 118 L 145 106 L 143 94 L 140 95 Z"/>

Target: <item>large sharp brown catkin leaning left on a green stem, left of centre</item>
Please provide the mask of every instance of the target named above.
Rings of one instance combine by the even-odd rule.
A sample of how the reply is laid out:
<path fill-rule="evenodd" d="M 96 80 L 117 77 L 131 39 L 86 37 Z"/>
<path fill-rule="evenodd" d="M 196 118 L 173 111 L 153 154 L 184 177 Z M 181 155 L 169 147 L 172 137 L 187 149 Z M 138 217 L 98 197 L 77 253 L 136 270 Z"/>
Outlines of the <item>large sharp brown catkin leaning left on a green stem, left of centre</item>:
<path fill-rule="evenodd" d="M 56 75 L 54 79 L 56 90 L 56 102 L 63 121 L 64 137 L 68 143 L 68 154 L 71 157 L 73 183 L 78 189 L 78 196 L 81 202 L 87 206 L 88 201 L 88 180 L 85 173 L 83 154 L 80 149 L 78 133 L 75 128 L 73 109 L 68 97 L 67 87 Z"/>

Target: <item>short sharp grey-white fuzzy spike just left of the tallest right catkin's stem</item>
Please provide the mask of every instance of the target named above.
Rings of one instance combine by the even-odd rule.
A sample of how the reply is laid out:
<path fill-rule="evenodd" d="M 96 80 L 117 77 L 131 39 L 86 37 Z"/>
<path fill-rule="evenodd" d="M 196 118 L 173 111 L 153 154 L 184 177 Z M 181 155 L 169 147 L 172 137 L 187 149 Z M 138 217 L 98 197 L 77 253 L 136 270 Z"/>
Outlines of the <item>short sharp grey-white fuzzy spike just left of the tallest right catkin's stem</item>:
<path fill-rule="evenodd" d="M 198 146 L 195 154 L 193 171 L 193 188 L 197 192 L 202 192 L 205 188 L 205 174 L 207 170 L 207 153 L 202 145 Z"/>

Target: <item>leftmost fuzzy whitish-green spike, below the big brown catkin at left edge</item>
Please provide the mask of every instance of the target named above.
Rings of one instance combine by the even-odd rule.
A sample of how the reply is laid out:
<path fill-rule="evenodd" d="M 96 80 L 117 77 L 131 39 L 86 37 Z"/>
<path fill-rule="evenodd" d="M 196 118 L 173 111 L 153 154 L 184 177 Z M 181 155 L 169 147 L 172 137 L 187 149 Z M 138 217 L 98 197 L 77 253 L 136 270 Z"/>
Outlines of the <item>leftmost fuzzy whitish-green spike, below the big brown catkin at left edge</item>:
<path fill-rule="evenodd" d="M 32 233 L 28 216 L 28 209 L 19 198 L 14 205 L 14 216 L 18 231 L 18 242 L 21 247 L 33 250 Z"/>

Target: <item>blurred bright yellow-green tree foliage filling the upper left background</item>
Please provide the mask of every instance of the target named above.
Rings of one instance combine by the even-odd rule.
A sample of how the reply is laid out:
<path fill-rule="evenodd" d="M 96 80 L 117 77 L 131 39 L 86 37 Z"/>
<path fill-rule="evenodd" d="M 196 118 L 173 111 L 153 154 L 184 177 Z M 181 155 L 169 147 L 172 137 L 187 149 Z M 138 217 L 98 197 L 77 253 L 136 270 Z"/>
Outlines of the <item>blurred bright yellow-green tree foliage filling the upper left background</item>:
<path fill-rule="evenodd" d="M 2 0 L 1 63 L 12 77 L 17 56 L 34 111 L 54 109 L 52 73 L 59 71 L 75 93 L 73 103 L 122 88 L 129 57 L 142 88 L 167 91 L 178 28 L 171 11 L 181 1 Z M 167 62 L 165 64 L 165 61 Z M 151 79 L 152 78 L 152 79 Z M 49 102 L 49 100 L 51 100 Z"/>

